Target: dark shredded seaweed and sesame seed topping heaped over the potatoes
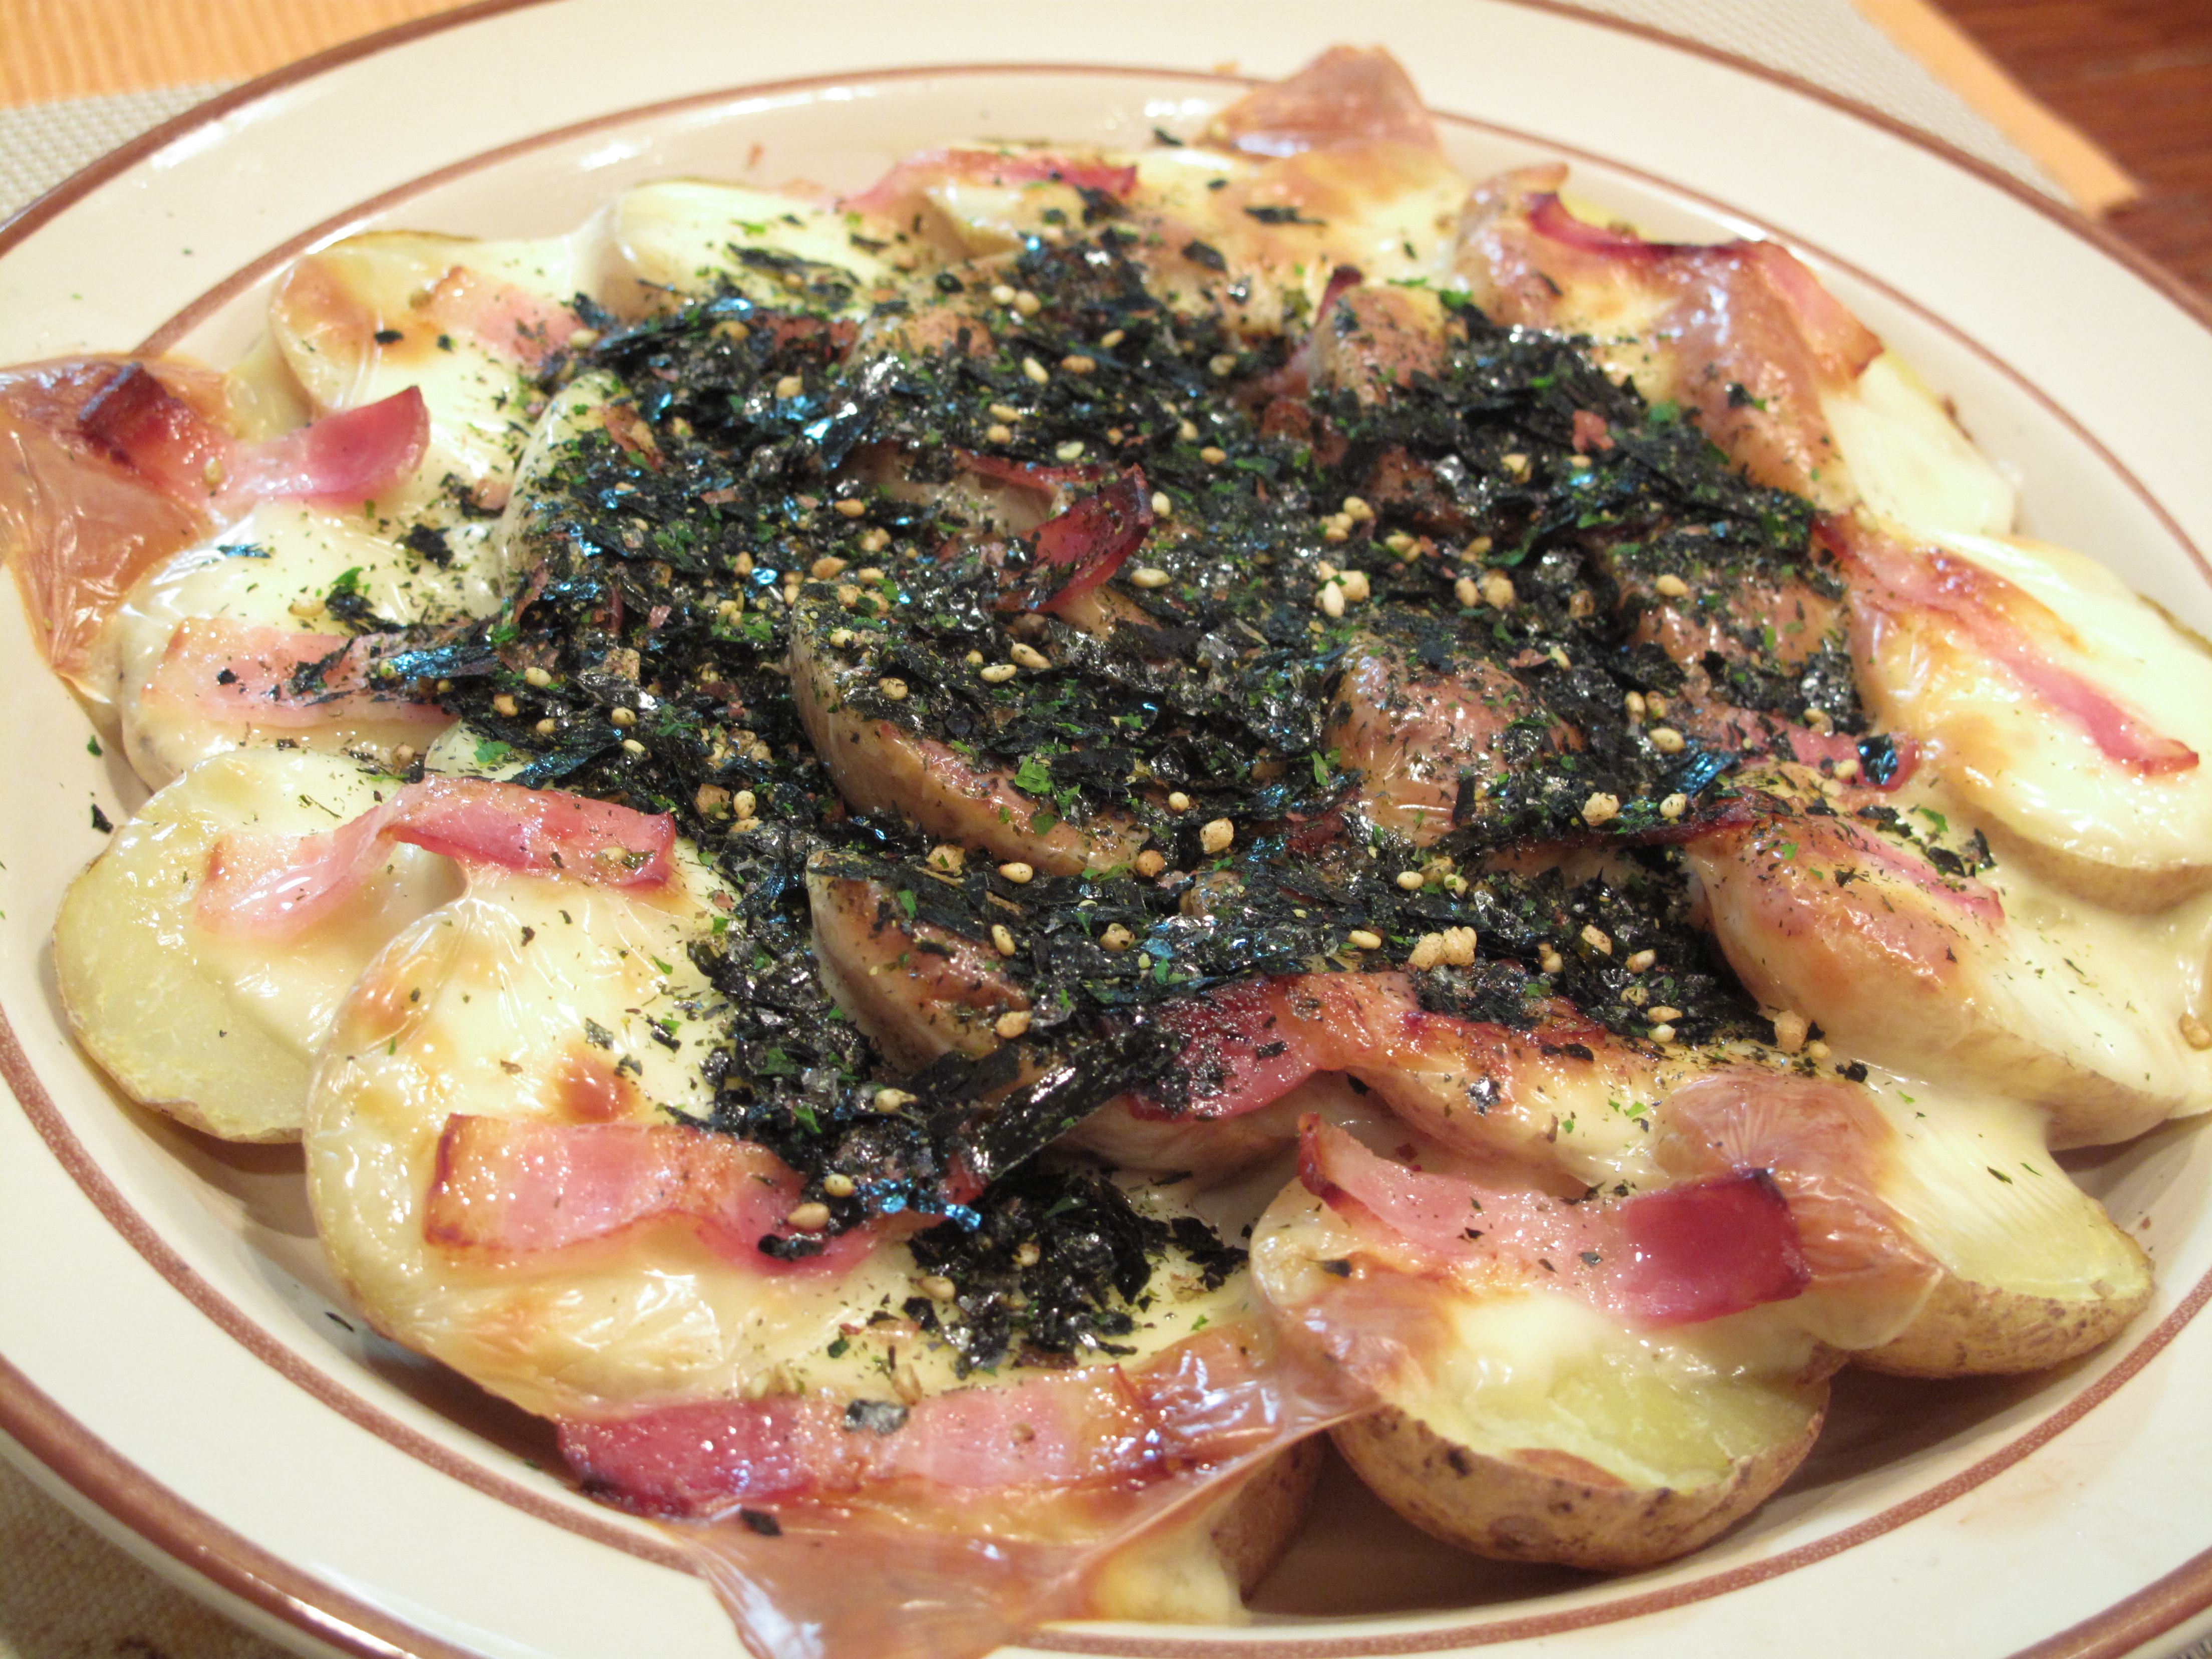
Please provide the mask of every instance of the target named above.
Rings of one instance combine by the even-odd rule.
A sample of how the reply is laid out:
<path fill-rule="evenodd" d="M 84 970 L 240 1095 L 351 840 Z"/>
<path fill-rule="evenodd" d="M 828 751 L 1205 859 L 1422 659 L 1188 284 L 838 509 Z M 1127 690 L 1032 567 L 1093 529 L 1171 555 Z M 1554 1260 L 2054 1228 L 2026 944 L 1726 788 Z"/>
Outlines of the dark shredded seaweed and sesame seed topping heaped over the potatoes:
<path fill-rule="evenodd" d="M 593 316 L 542 392 L 553 418 L 597 416 L 524 482 L 511 606 L 394 664 L 451 688 L 482 759 L 670 812 L 732 883 L 699 947 L 730 1000 L 714 1124 L 805 1172 L 832 1230 L 949 1214 L 914 1250 L 960 1283 L 947 1336 L 973 1363 L 1110 1347 L 1168 1243 L 1232 1265 L 1197 1223 L 1170 1239 L 1037 1159 L 1128 1088 L 1179 1097 L 1168 1000 L 1411 964 L 1425 1006 L 1475 1020 L 1531 1026 L 1564 998 L 1628 1037 L 1648 1006 L 1681 1042 L 1763 1031 L 1692 927 L 1677 843 L 1730 810 L 1776 721 L 1865 732 L 1803 500 L 1575 341 L 1464 305 L 1380 392 L 1316 389 L 1307 319 L 1254 336 L 1172 312 L 1113 223 L 998 265 L 1040 303 L 989 327 L 958 270 L 865 316 L 832 268 L 783 276 L 783 310 L 730 288 Z M 1110 573 L 1088 568 L 1102 546 Z M 1677 606 L 1701 635 L 1668 648 L 1648 615 L 1686 593 L 1717 597 Z M 1033 834 L 1126 856 L 1000 867 L 854 810 L 796 661 L 841 710 L 998 779 Z M 1369 728 L 1438 686 L 1475 688 L 1502 730 L 1447 754 L 1433 812 L 1383 810 Z M 1650 714 L 1683 695 L 1741 714 L 1725 743 Z M 1869 774 L 1882 752 L 1867 739 Z M 1515 856 L 1535 845 L 1553 854 Z M 878 1053 L 814 969 L 810 872 L 914 949 L 1000 927 L 1013 1035 Z M 1462 929 L 1473 960 L 1440 960 Z M 1661 971 L 1632 973 L 1639 953 Z M 1015 1234 L 1044 1243 L 1015 1256 Z"/>

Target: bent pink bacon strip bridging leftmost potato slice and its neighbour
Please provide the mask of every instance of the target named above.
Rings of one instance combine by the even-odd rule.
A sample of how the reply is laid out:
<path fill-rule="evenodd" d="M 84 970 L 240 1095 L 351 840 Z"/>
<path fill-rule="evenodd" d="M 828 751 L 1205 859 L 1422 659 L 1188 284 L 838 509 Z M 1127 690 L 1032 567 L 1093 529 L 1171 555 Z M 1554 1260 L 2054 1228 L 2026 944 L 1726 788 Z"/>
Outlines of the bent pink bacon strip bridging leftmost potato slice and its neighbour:
<path fill-rule="evenodd" d="M 511 869 L 606 887 L 661 887 L 675 821 L 560 790 L 431 776 L 312 836 L 223 836 L 199 889 L 212 933 L 296 938 L 330 916 L 405 841 L 471 869 Z"/>

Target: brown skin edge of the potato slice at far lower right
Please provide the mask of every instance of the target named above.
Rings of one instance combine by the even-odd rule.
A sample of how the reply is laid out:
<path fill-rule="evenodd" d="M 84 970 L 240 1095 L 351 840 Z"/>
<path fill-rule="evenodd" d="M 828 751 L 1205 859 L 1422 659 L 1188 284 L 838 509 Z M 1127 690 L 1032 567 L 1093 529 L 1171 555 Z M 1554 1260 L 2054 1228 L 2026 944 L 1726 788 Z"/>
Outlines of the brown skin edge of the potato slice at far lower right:
<path fill-rule="evenodd" d="M 2130 1248 L 2135 1241 L 2128 1241 Z M 2150 1303 L 2150 1261 L 2126 1285 L 2099 1279 L 2093 1296 L 2031 1296 L 1944 1276 L 1898 1336 L 1851 1363 L 1889 1376 L 2008 1376 L 2042 1371 L 2104 1347 Z"/>

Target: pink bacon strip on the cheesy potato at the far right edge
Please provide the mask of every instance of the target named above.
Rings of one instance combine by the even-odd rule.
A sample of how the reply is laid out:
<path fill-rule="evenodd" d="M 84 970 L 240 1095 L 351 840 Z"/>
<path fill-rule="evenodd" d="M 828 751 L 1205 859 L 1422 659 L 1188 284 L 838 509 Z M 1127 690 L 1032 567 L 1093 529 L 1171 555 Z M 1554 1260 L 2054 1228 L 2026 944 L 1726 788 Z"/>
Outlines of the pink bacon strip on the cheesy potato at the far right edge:
<path fill-rule="evenodd" d="M 2143 714 L 2042 646 L 2044 639 L 2070 644 L 2073 630 L 2035 595 L 1971 560 L 1940 549 L 1909 549 L 1856 522 L 1827 520 L 1823 535 L 1851 575 L 1851 597 L 1863 608 L 1865 657 L 1882 648 L 1889 630 L 1911 628 L 1933 613 L 2022 688 L 2088 732 L 2117 765 L 2141 776 L 2197 768 L 2197 750 L 2157 732 Z"/>

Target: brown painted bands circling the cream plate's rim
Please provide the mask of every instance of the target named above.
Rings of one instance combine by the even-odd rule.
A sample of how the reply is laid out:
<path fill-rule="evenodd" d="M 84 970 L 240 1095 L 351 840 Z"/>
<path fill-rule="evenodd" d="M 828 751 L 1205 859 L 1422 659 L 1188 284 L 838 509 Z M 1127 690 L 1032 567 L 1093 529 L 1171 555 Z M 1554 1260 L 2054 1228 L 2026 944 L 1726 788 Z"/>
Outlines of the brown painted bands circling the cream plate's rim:
<path fill-rule="evenodd" d="M 369 35 L 365 40 L 336 46 L 327 53 L 303 60 L 301 64 L 292 64 L 257 82 L 239 86 L 232 93 L 226 93 L 223 97 L 201 106 L 199 111 L 190 111 L 177 117 L 175 122 L 155 128 L 135 144 L 124 146 L 111 157 L 93 164 L 84 173 L 58 186 L 40 201 L 24 208 L 24 212 L 15 215 L 15 219 L 0 226 L 0 252 L 7 252 L 7 248 L 11 248 L 24 234 L 29 234 L 40 223 L 62 212 L 73 201 L 88 195 L 93 188 L 117 177 L 131 164 L 164 148 L 179 135 L 197 131 L 199 126 L 228 113 L 230 108 L 248 104 L 281 86 L 312 77 L 327 69 L 336 69 L 349 60 L 372 55 L 387 46 L 403 44 L 407 40 L 436 33 L 456 24 L 465 24 L 476 18 L 522 9 L 526 4 L 538 4 L 538 0 L 480 0 L 480 4 L 462 7 L 458 11 L 436 18 L 425 18 L 411 24 L 400 24 L 398 29 L 389 29 L 378 35 Z M 2212 305 L 2208 305 L 2201 296 L 2183 288 L 2177 279 L 2172 279 L 2168 272 L 2163 272 L 2161 268 L 2137 254 L 2119 239 L 2088 223 L 2068 208 L 2048 201 L 2042 192 L 2031 190 L 2011 175 L 2004 175 L 2002 170 L 1991 168 L 1978 161 L 1975 157 L 1966 157 L 1953 150 L 1951 146 L 1940 144 L 1902 122 L 1880 115 L 1878 111 L 1867 111 L 1858 104 L 1851 104 L 1849 100 L 1827 93 L 1825 88 L 1809 86 L 1807 82 L 1801 82 L 1796 77 L 1770 71 L 1761 64 L 1750 64 L 1745 60 L 1701 46 L 1697 42 L 1683 42 L 1657 29 L 1626 24 L 1613 18 L 1582 11 L 1577 7 L 1557 4 L 1555 0 L 1515 0 L 1515 4 L 1537 11 L 1571 15 L 1590 24 L 1646 38 L 1663 46 L 1690 51 L 1694 55 L 1728 64 L 1736 71 L 1776 82 L 1796 93 L 1816 97 L 1818 102 L 1854 113 L 1860 119 L 1874 122 L 1876 126 L 1882 126 L 1900 137 L 1907 137 L 1916 146 L 1931 150 L 1953 161 L 1955 166 L 1966 168 L 1969 173 L 1978 175 L 1984 184 L 1993 184 L 2013 195 L 2015 199 L 2028 201 L 2044 217 L 2053 219 L 2055 223 L 2081 237 L 2084 241 L 2090 241 L 2101 252 L 2112 257 L 2117 263 L 2121 263 L 2143 281 L 2159 288 L 2163 294 L 2174 299 L 2177 305 L 2190 312 L 2197 321 L 2212 325 Z M 442 179 L 495 164 L 504 157 L 540 148 L 544 144 L 564 137 L 573 137 L 577 133 L 586 133 L 615 122 L 639 119 L 644 115 L 661 111 L 728 100 L 741 91 L 743 93 L 796 91 L 823 84 L 852 84 L 856 80 L 914 77 L 929 73 L 995 73 L 995 71 L 1152 73 L 1152 75 L 1206 80 L 1214 84 L 1237 84 L 1234 77 L 1223 77 L 1223 75 L 1201 75 L 1197 71 L 1157 71 L 1144 66 L 1117 69 L 1117 66 L 1093 66 L 1093 64 L 1086 66 L 940 64 L 927 69 L 845 71 L 836 75 L 816 75 L 807 80 L 774 82 L 765 86 L 701 93 L 684 100 L 670 100 L 666 104 L 648 104 L 633 111 L 622 111 L 617 115 L 597 117 L 593 122 L 582 122 L 568 128 L 555 128 L 526 139 L 518 139 L 513 144 L 487 150 L 467 161 L 438 168 L 407 186 L 398 186 L 396 190 L 383 192 L 372 201 L 356 206 L 352 212 L 325 221 L 305 237 L 292 239 L 285 246 L 285 250 L 276 250 L 274 254 L 254 261 L 246 272 L 234 274 L 219 290 L 210 290 L 210 294 L 204 294 L 201 301 L 195 301 L 195 305 L 186 307 L 186 312 L 179 312 L 175 319 L 170 319 L 170 323 L 164 325 L 155 338 L 157 341 L 175 338 L 186 327 L 190 327 L 190 323 L 197 321 L 197 316 L 206 314 L 206 307 L 212 307 L 215 303 L 221 303 L 221 299 L 228 299 L 230 294 L 239 292 L 243 285 L 250 285 L 252 281 L 259 279 L 259 274 L 265 274 L 274 263 L 290 259 L 314 239 L 327 237 L 345 228 L 347 223 L 358 221 L 367 212 L 374 212 L 383 206 L 392 206 Z M 1447 119 L 1453 119 L 1453 124 L 1469 126 L 1475 131 L 1513 135 L 1522 139 L 1528 137 L 1513 133 L 1511 128 L 1469 122 L 1464 117 L 1447 117 Z M 1648 179 L 1650 184 L 1661 186 L 1674 192 L 1677 197 L 1686 197 L 1730 215 L 1736 212 L 1725 204 L 1712 201 L 1697 192 L 1688 192 L 1677 184 L 1670 184 L 1666 179 L 1655 179 L 1652 175 L 1637 173 L 1635 168 L 1626 168 L 1619 161 L 1613 161 L 1610 157 L 1577 153 L 1573 150 L 1573 146 L 1562 146 L 1555 144 L 1553 139 L 1533 139 L 1533 142 L 1562 155 L 1582 155 L 1584 159 L 1601 161 L 1604 166 L 1615 168 L 1624 175 Z M 2039 392 L 2035 392 L 2035 387 L 2026 385 L 2008 365 L 2004 365 L 2000 358 L 1986 352 L 1980 343 L 1971 341 L 1958 330 L 1951 330 L 1951 325 L 1944 323 L 1942 319 L 1927 314 L 1913 301 L 1889 290 L 1887 283 L 1867 276 L 1849 261 L 1832 259 L 1827 254 L 1820 254 L 1820 250 L 1816 248 L 1812 252 L 1827 259 L 1832 265 L 1840 270 L 1849 270 L 1854 276 L 1867 281 L 1869 285 L 1889 294 L 1898 303 L 1911 307 L 1916 314 L 1927 316 L 1929 323 L 1942 327 L 1955 341 L 1964 343 L 1969 349 L 1989 361 L 2000 374 L 2004 374 L 2004 378 L 2013 380 L 2031 396 L 2035 396 L 2051 414 L 2055 414 L 2062 422 L 2066 422 L 2068 429 L 2075 431 L 2075 436 L 2081 438 L 2110 467 L 2110 471 L 2117 478 L 2121 478 L 2130 487 L 2130 491 L 2159 518 L 2159 522 L 2190 553 L 2199 573 L 2212 580 L 2212 568 L 2208 568 L 2203 553 L 2192 544 L 2192 540 L 2181 533 L 2179 524 L 2174 524 L 2174 520 L 2141 487 L 2141 482 L 2135 480 L 2135 476 L 2126 467 L 2121 467 L 2117 458 L 2112 458 L 2104 449 L 2104 445 L 2099 445 L 2077 420 L 2073 420 L 2068 411 L 2059 409 Z M 186 1265 L 166 1243 L 161 1243 L 153 1234 L 153 1230 L 144 1223 L 144 1219 L 128 1206 L 122 1192 L 95 1166 L 82 1141 L 77 1141 L 73 1130 L 66 1126 L 66 1121 L 53 1106 L 40 1079 L 31 1073 L 29 1060 L 15 1040 L 13 1026 L 4 1018 L 4 1011 L 0 1011 L 0 1075 L 4 1075 L 7 1082 L 15 1086 L 18 1099 L 24 1104 L 24 1110 L 38 1126 L 46 1146 L 53 1150 L 55 1159 L 86 1192 L 86 1197 L 93 1199 L 93 1203 L 102 1210 L 108 1223 L 115 1225 L 117 1232 L 135 1250 L 139 1250 L 139 1254 L 146 1256 L 148 1263 L 155 1265 L 155 1270 L 161 1272 L 164 1279 L 179 1294 L 184 1294 L 195 1307 L 208 1314 L 221 1329 L 226 1329 L 226 1334 L 230 1334 L 234 1340 L 239 1340 L 243 1347 L 257 1354 L 257 1358 L 270 1363 L 288 1380 L 307 1389 L 314 1398 L 341 1411 L 358 1427 L 378 1433 L 387 1444 L 407 1451 L 409 1455 L 440 1469 L 442 1473 L 451 1473 L 465 1480 L 467 1484 L 476 1486 L 478 1491 L 484 1491 L 487 1495 L 495 1495 L 502 1502 L 509 1502 L 515 1509 L 531 1513 L 533 1517 L 551 1520 L 553 1524 L 566 1526 L 568 1531 L 575 1531 L 595 1542 L 604 1542 L 615 1548 L 624 1548 L 626 1553 L 639 1555 L 644 1559 L 681 1568 L 684 1557 L 681 1551 L 677 1551 L 675 1546 L 626 1531 L 611 1522 L 599 1522 L 588 1511 L 575 1511 L 568 1506 L 553 1504 L 544 1500 L 540 1493 L 533 1493 L 500 1475 L 489 1473 L 480 1464 L 449 1451 L 436 1440 L 429 1440 L 427 1436 L 420 1436 L 418 1431 L 389 1418 L 378 1407 L 361 1400 L 349 1389 L 338 1385 L 334 1378 L 307 1365 L 303 1358 L 285 1349 L 268 1332 L 254 1325 L 239 1307 L 228 1303 L 219 1292 L 215 1292 L 212 1285 L 199 1279 L 199 1274 L 195 1274 L 190 1265 Z M 1515 1617 L 1489 1619 L 1475 1626 L 1453 1626 L 1442 1630 L 1402 1630 L 1387 1635 L 1378 1632 L 1374 1637 L 1285 1635 L 1283 1639 L 1263 1637 L 1259 1641 L 1252 1639 L 1237 1641 L 1217 1637 L 1146 1639 L 1146 1637 L 1113 1637 L 1104 1632 L 1084 1632 L 1084 1630 L 1044 1630 L 1029 1637 L 1029 1644 L 1062 1652 L 1130 1655 L 1144 1659 L 1223 1659 L 1225 1655 L 1245 1655 L 1245 1652 L 1265 1655 L 1267 1659 L 1307 1659 L 1307 1657 L 1352 1659 L 1356 1655 L 1433 1652 L 1444 1648 L 1491 1646 L 1498 1641 L 1513 1641 L 1548 1632 L 1588 1628 L 1597 1624 L 1613 1624 L 1644 1613 L 1657 1613 L 1690 1601 L 1703 1601 L 1714 1595 L 1723 1595 L 1732 1588 L 1756 1584 L 1761 1579 L 1790 1573 L 1798 1566 L 1809 1566 L 1812 1562 L 1836 1555 L 1845 1548 L 1851 1548 L 1854 1544 L 1878 1537 L 1909 1520 L 1916 1520 L 1918 1515 L 1924 1515 L 1951 1502 L 1960 1493 L 1971 1491 L 1973 1486 L 1986 1482 L 1989 1478 L 2002 1473 L 2020 1458 L 2028 1455 L 2035 1447 L 2048 1442 L 2055 1433 L 2079 1420 L 2088 1409 L 2106 1400 L 2121 1383 L 2135 1376 L 2159 1349 L 2163 1349 L 2179 1334 L 2179 1329 L 2205 1305 L 2205 1301 L 2212 1301 L 2212 1274 L 2208 1274 L 2152 1332 L 2148 1332 L 2141 1340 L 2137 1340 L 2097 1383 L 2093 1383 L 2088 1389 L 2084 1389 L 2064 1407 L 2059 1407 L 2051 1418 L 2037 1422 L 2026 1433 L 2015 1436 L 2004 1447 L 1978 1460 L 1975 1464 L 1949 1478 L 1947 1482 L 1940 1482 L 1938 1486 L 1931 1486 L 1929 1491 L 1918 1493 L 1916 1498 L 1902 1504 L 1893 1504 L 1891 1509 L 1885 1509 L 1878 1515 L 1858 1522 L 1856 1526 L 1843 1528 L 1832 1537 L 1816 1540 L 1814 1544 L 1778 1553 L 1763 1562 L 1708 1575 L 1703 1579 L 1692 1579 L 1646 1595 L 1624 1595 L 1610 1601 L 1599 1601 L 1548 1615 L 1546 1613 L 1515 1615 Z M 77 1425 L 73 1418 L 60 1411 L 55 1402 L 46 1400 L 46 1396 L 40 1394 L 35 1385 L 29 1383 L 29 1378 L 9 1367 L 4 1360 L 0 1360 L 0 1429 L 11 1431 L 27 1449 L 33 1451 L 33 1455 L 40 1455 L 42 1462 L 46 1462 L 49 1467 L 55 1469 L 55 1473 L 69 1480 L 69 1484 L 82 1498 L 95 1502 L 100 1509 L 111 1513 L 115 1520 L 124 1522 L 146 1542 L 164 1548 L 177 1562 L 208 1577 L 210 1582 L 219 1584 L 232 1595 L 241 1595 L 241 1599 L 250 1601 L 252 1606 L 259 1606 L 272 1613 L 274 1617 L 292 1624 L 303 1635 L 310 1635 L 325 1644 L 341 1646 L 347 1652 L 361 1652 L 361 1655 L 394 1652 L 396 1648 L 389 1646 L 394 1637 L 407 1644 L 405 1648 L 398 1648 L 400 1652 L 418 1652 L 425 1655 L 425 1659 L 447 1659 L 447 1655 L 458 1652 L 418 1628 L 398 1624 L 387 1615 L 376 1613 L 374 1608 L 365 1608 L 352 1601 L 352 1597 L 334 1590 L 327 1584 L 307 1579 L 303 1573 L 285 1566 L 279 1557 L 272 1557 L 268 1551 L 261 1551 L 250 1540 L 243 1540 L 230 1533 L 228 1528 L 219 1526 L 217 1522 L 212 1522 L 201 1511 L 186 1504 L 168 1489 L 148 1480 L 144 1471 L 135 1469 L 117 1453 L 113 1453 L 82 1425 Z M 219 1548 L 210 1553 L 210 1544 Z M 310 1595 L 303 1597 L 301 1590 Z M 2031 1650 L 2024 1650 L 2020 1659 L 2028 1659 L 2031 1655 L 2033 1659 L 2104 1659 L 2106 1655 L 2126 1652 L 2141 1641 L 2154 1639 L 2157 1635 L 2172 1630 L 2177 1624 L 2192 1617 L 2194 1613 L 2201 1613 L 2205 1606 L 2212 1606 L 2212 1551 L 2194 1557 L 2192 1562 L 2185 1562 L 2181 1568 L 2174 1568 L 2157 1584 L 2146 1586 L 2143 1590 L 2126 1597 L 2112 1608 L 2073 1626 L 2070 1630 L 2057 1637 L 2051 1637 L 2048 1641 L 2033 1646 Z M 365 1621 L 356 1615 L 365 1615 Z M 334 1626 L 334 1619 L 343 1619 L 345 1624 Z"/>

